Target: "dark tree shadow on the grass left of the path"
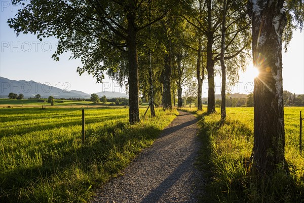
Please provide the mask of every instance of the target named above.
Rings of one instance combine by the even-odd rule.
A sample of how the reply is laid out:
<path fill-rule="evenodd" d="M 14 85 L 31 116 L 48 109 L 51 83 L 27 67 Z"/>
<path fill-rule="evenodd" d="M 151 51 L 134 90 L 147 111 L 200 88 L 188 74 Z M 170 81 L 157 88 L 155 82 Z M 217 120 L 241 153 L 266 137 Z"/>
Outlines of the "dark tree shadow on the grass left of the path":
<path fill-rule="evenodd" d="M 41 165 L 17 166 L 0 174 L 0 202 L 50 201 L 50 194 L 44 191 L 45 188 L 39 188 L 40 184 L 53 188 L 49 192 L 52 196 L 57 196 L 57 201 L 80 201 L 80 196 L 87 199 L 92 195 L 92 190 L 88 188 L 118 174 L 140 152 L 142 145 L 154 140 L 160 132 L 161 130 L 153 126 L 129 127 L 125 122 L 118 122 L 106 130 L 100 129 L 89 135 L 87 143 L 80 148 L 70 147 L 66 150 L 66 145 L 80 145 L 81 139 L 69 139 L 52 144 L 51 148 L 44 149 L 50 153 L 42 154 Z M 56 152 L 56 149 L 62 150 Z M 30 158 L 35 158 L 34 156 L 33 153 Z M 97 167 L 95 170 L 100 177 L 94 176 L 93 166 Z M 69 179 L 69 176 L 73 176 L 75 168 L 86 174 L 88 180 L 75 180 L 75 184 L 71 185 L 55 181 L 56 177 L 59 180 Z M 73 178 L 75 177 L 70 179 Z"/>

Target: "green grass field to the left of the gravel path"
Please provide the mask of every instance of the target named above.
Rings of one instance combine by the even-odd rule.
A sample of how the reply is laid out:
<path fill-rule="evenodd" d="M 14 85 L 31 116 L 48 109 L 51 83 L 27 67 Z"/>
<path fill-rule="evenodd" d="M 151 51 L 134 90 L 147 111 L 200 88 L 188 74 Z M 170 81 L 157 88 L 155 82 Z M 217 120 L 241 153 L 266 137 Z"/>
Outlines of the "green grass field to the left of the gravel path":
<path fill-rule="evenodd" d="M 0 202 L 87 202 L 177 115 L 157 109 L 128 124 L 128 108 L 0 110 Z M 145 109 L 140 109 L 141 117 Z"/>

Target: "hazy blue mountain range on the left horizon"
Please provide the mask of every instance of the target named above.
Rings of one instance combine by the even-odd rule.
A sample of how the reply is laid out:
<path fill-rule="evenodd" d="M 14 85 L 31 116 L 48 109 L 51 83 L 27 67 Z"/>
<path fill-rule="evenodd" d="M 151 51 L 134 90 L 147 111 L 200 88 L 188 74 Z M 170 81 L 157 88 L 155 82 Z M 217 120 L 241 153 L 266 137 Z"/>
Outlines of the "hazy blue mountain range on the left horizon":
<path fill-rule="evenodd" d="M 90 98 L 90 94 L 79 90 L 63 90 L 57 87 L 51 86 L 49 83 L 38 83 L 35 81 L 25 80 L 10 80 L 4 77 L 0 77 L 0 98 L 7 98 L 9 93 L 23 94 L 25 98 L 34 97 L 36 94 L 40 94 L 41 97 L 53 96 L 55 98 Z M 111 97 L 129 97 L 129 95 L 120 92 L 100 91 L 96 92 L 98 96 L 105 95 L 107 98 Z"/>

